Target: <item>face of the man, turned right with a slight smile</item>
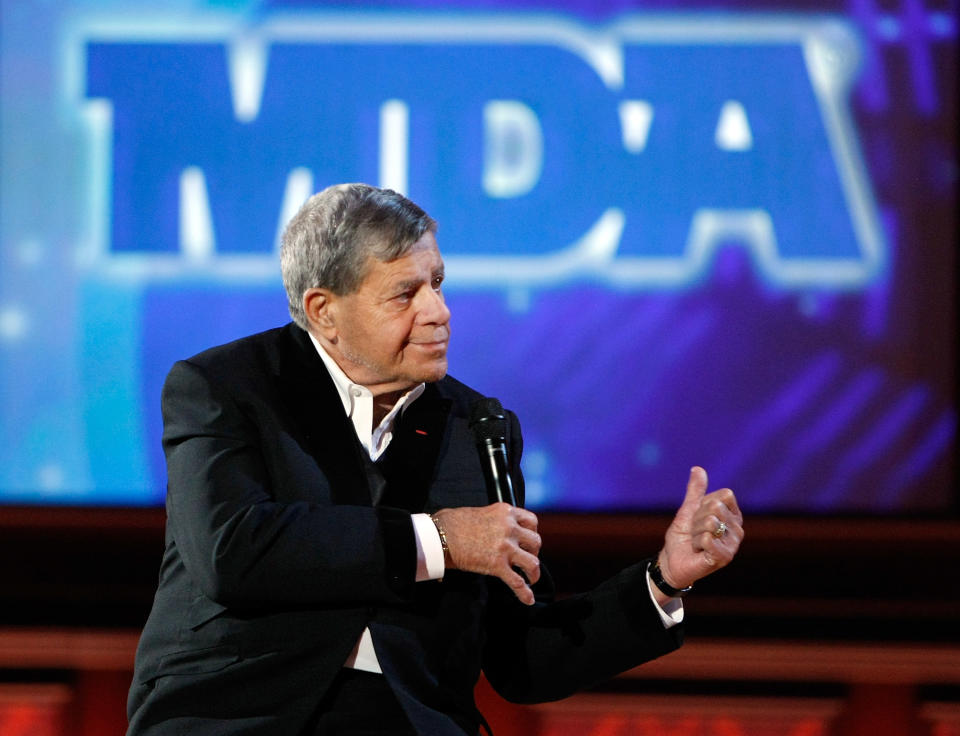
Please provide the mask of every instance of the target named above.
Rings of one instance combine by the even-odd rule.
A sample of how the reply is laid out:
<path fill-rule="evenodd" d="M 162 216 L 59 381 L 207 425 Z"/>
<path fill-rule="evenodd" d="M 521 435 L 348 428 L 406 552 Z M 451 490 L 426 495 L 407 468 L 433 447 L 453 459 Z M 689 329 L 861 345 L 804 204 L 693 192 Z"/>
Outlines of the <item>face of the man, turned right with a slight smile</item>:
<path fill-rule="evenodd" d="M 443 259 L 431 232 L 396 260 L 369 258 L 359 289 L 330 296 L 327 347 L 343 372 L 374 394 L 443 378 L 450 310 L 442 283 Z"/>

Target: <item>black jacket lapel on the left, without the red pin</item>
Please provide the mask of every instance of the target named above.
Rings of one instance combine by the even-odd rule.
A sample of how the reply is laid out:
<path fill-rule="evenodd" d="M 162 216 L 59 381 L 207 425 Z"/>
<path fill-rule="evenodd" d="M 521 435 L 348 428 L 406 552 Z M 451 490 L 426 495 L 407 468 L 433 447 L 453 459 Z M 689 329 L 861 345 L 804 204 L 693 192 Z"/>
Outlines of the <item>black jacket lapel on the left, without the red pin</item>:
<path fill-rule="evenodd" d="M 310 336 L 294 324 L 281 333 L 277 380 L 304 449 L 330 482 L 333 502 L 369 506 L 363 448 Z"/>

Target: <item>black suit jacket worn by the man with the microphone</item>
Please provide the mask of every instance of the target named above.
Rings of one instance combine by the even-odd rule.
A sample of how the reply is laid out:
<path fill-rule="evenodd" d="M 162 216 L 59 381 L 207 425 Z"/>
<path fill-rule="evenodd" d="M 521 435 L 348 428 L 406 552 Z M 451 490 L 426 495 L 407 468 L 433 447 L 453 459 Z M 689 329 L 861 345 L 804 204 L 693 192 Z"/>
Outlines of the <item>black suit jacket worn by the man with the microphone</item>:
<path fill-rule="evenodd" d="M 475 734 L 481 668 L 504 697 L 564 697 L 680 644 L 645 563 L 594 591 L 526 607 L 497 579 L 415 583 L 411 512 L 488 503 L 468 427 L 479 398 L 429 384 L 398 422 L 370 503 L 363 452 L 295 325 L 213 348 L 163 391 L 166 549 L 137 651 L 129 734 L 301 734 L 369 627 L 417 730 Z M 521 437 L 508 447 L 518 499 Z"/>

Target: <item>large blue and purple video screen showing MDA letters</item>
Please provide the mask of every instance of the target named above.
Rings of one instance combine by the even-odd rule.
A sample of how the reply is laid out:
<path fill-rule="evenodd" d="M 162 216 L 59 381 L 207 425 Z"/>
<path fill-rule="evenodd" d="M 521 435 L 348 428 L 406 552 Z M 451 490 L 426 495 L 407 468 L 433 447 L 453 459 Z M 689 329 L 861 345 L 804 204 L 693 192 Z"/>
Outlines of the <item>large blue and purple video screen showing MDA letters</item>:
<path fill-rule="evenodd" d="M 364 181 L 531 507 L 954 509 L 956 3 L 455 7 L 0 0 L 0 503 L 161 505 L 171 364 Z"/>

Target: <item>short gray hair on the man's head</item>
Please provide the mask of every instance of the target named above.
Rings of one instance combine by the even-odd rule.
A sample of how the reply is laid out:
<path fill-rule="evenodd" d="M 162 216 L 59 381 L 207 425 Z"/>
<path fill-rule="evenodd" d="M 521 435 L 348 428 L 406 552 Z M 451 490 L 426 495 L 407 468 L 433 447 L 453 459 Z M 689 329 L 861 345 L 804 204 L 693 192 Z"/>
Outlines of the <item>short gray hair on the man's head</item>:
<path fill-rule="evenodd" d="M 367 258 L 392 261 L 437 223 L 392 189 L 337 184 L 308 199 L 283 232 L 280 269 L 290 316 L 307 329 L 307 289 L 351 294 L 366 276 Z"/>

